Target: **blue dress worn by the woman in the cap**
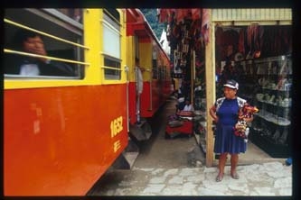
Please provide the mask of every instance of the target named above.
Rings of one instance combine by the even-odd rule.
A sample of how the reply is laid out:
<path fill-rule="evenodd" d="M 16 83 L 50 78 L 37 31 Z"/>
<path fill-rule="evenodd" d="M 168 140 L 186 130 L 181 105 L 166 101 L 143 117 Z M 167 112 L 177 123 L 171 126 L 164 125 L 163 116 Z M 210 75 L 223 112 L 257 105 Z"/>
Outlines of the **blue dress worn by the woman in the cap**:
<path fill-rule="evenodd" d="M 217 116 L 219 122 L 216 124 L 216 135 L 214 141 L 214 152 L 237 154 L 247 150 L 247 143 L 234 134 L 234 126 L 238 121 L 239 104 L 237 99 L 225 99 Z"/>

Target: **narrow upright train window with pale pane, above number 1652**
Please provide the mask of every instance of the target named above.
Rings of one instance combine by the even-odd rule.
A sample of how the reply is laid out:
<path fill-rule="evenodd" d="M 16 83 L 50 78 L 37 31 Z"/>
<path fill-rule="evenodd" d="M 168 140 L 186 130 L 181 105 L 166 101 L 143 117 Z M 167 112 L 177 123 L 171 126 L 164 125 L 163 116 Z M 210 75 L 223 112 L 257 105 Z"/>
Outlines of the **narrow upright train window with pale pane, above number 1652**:
<path fill-rule="evenodd" d="M 103 51 L 105 79 L 121 79 L 120 16 L 115 9 L 104 10 Z"/>

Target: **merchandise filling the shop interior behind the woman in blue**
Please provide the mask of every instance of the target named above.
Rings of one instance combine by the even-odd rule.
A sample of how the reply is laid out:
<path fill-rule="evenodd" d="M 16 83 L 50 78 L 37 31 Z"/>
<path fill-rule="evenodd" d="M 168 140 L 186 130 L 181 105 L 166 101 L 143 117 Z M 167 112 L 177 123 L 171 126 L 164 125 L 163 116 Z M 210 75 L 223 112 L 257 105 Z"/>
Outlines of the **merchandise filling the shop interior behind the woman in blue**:
<path fill-rule="evenodd" d="M 290 154 L 293 83 L 291 27 L 217 26 L 217 91 L 227 79 L 240 83 L 238 95 L 259 108 L 249 126 L 249 141 L 273 158 Z"/>

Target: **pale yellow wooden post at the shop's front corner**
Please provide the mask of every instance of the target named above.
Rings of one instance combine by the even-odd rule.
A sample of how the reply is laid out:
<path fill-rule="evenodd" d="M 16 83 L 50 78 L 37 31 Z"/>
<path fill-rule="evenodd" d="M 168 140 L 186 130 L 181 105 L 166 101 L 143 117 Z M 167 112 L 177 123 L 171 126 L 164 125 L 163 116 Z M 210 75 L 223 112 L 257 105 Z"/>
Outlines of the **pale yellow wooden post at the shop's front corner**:
<path fill-rule="evenodd" d="M 209 12 L 210 25 L 209 35 L 210 40 L 205 48 L 205 73 L 206 73 L 206 114 L 207 114 L 207 132 L 206 132 L 206 167 L 210 168 L 213 165 L 213 132 L 212 132 L 212 116 L 209 114 L 210 107 L 215 101 L 215 35 L 214 24 L 212 23 L 212 9 Z"/>

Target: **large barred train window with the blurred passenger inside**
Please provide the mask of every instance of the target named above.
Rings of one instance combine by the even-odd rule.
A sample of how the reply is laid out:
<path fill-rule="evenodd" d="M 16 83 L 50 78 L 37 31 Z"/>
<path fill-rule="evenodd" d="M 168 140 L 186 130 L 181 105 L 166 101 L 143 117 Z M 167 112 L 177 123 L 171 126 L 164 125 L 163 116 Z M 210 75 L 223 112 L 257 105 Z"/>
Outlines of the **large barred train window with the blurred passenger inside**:
<path fill-rule="evenodd" d="M 82 78 L 81 43 L 82 25 L 58 10 L 5 9 L 7 78 Z"/>

